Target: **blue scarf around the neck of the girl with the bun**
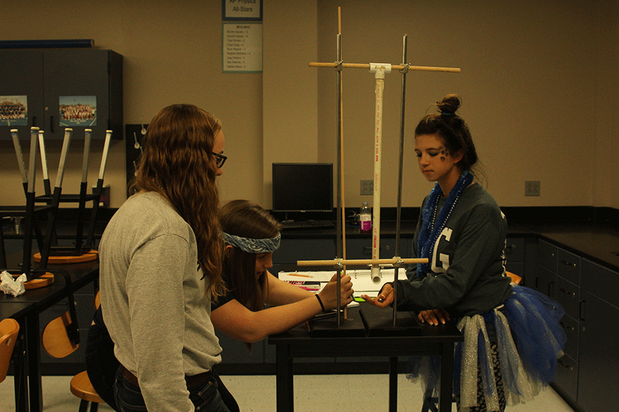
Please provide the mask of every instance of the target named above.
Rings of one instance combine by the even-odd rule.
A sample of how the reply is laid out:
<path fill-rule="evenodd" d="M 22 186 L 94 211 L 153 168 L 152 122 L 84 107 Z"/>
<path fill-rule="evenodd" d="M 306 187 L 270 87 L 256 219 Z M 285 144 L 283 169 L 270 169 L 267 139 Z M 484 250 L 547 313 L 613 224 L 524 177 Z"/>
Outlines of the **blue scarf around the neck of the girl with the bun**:
<path fill-rule="evenodd" d="M 443 192 L 438 183 L 434 185 L 434 189 L 430 193 L 428 201 L 426 201 L 426 205 L 424 206 L 424 210 L 422 212 L 422 225 L 419 232 L 419 238 L 417 238 L 417 258 L 428 259 L 428 263 L 417 264 L 417 277 L 420 279 L 422 279 L 426 273 L 431 271 L 432 265 L 430 262 L 436 241 L 447 224 L 447 220 L 449 220 L 451 212 L 458 202 L 462 191 L 465 187 L 470 185 L 471 182 L 473 182 L 473 174 L 468 170 L 465 170 L 458 178 L 455 186 L 449 192 L 447 201 L 439 211 L 438 216 L 436 209 L 439 198 L 441 198 Z"/>

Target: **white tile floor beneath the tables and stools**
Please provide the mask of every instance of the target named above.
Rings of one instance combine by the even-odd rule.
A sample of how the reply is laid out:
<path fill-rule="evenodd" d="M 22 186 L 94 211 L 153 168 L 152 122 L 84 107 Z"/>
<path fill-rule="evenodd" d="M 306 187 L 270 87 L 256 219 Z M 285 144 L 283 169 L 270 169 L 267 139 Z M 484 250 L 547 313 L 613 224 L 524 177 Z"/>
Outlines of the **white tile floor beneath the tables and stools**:
<path fill-rule="evenodd" d="M 43 376 L 43 411 L 77 412 L 79 400 L 69 391 L 71 376 Z M 422 391 L 404 375 L 398 376 L 398 411 L 421 411 Z M 243 412 L 275 411 L 275 376 L 221 376 Z M 387 375 L 296 375 L 294 376 L 296 411 L 380 412 L 389 409 Z M 13 379 L 0 383 L 0 412 L 13 412 Z M 99 411 L 111 412 L 107 405 Z M 455 404 L 453 406 L 455 411 Z M 573 412 L 556 392 L 547 387 L 527 404 L 508 408 L 510 412 Z"/>

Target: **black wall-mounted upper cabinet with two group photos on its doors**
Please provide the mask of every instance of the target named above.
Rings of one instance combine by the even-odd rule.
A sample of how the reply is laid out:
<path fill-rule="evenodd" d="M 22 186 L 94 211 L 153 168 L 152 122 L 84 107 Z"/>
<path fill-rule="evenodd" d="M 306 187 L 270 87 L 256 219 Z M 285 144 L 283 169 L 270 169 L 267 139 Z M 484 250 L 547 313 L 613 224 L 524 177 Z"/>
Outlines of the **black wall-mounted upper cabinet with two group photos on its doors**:
<path fill-rule="evenodd" d="M 122 139 L 122 56 L 97 49 L 0 49 L 0 139 L 30 127 L 45 139 L 62 139 L 64 129 L 92 129 L 93 139 L 112 130 Z"/>

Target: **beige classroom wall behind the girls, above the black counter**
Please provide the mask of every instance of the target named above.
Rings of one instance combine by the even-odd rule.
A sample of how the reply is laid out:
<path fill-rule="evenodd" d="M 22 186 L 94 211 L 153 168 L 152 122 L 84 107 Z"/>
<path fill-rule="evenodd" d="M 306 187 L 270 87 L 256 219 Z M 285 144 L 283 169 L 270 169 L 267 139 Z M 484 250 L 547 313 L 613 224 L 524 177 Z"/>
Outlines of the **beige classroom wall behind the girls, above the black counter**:
<path fill-rule="evenodd" d="M 431 187 L 417 172 L 413 129 L 435 100 L 458 93 L 501 205 L 619 208 L 617 1 L 265 0 L 263 74 L 221 73 L 219 0 L 33 3 L 12 4 L 0 38 L 94 38 L 97 48 L 122 54 L 125 123 L 148 122 L 173 102 L 221 119 L 230 156 L 219 183 L 224 200 L 270 207 L 272 162 L 336 161 L 336 74 L 307 62 L 336 59 L 342 6 L 347 62 L 400 63 L 407 34 L 413 65 L 462 70 L 407 75 L 402 205 L 418 206 Z M 397 72 L 385 80 L 387 207 L 396 198 L 400 81 Z M 345 198 L 356 207 L 371 202 L 359 195 L 359 180 L 373 170 L 374 79 L 355 69 L 343 84 Z M 12 144 L 0 142 L 0 150 L 0 204 L 22 203 Z M 78 187 L 80 150 L 74 143 L 65 192 Z M 48 151 L 55 168 L 59 144 Z M 98 161 L 93 154 L 90 176 Z M 116 141 L 106 176 L 114 207 L 124 200 L 124 173 L 124 143 Z M 540 197 L 523 195 L 527 180 L 541 181 Z"/>

